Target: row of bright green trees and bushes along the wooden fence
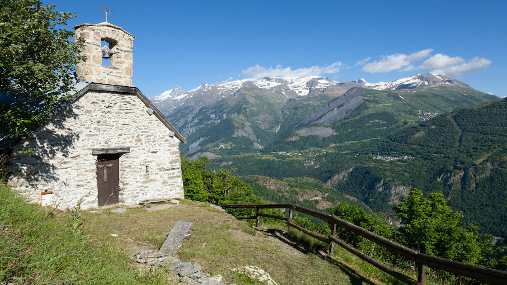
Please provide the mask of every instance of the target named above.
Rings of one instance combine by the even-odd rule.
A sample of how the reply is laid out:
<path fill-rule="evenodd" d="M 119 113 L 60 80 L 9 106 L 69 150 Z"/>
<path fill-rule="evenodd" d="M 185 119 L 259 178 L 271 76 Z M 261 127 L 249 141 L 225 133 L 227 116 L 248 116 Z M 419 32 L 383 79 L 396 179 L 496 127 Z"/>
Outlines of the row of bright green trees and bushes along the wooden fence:
<path fill-rule="evenodd" d="M 245 182 L 255 181 L 256 177 L 240 179 L 234 175 L 236 169 L 208 169 L 206 166 L 209 162 L 209 159 L 205 157 L 197 160 L 189 160 L 186 157 L 182 159 L 186 198 L 212 204 L 266 202 L 254 195 L 254 190 L 245 184 Z M 260 193 L 259 190 L 257 193 Z M 275 200 L 275 198 L 272 199 Z M 276 202 L 285 202 L 283 198 L 278 199 Z M 422 191 L 413 189 L 403 202 L 392 205 L 391 210 L 393 215 L 403 222 L 402 227 L 389 223 L 382 213 L 373 213 L 360 204 L 351 204 L 350 201 L 338 203 L 327 209 L 327 212 L 421 253 L 500 270 L 507 269 L 507 245 L 501 241 L 491 242 L 493 235 L 481 233 L 479 226 L 464 225 L 460 222 L 463 218 L 462 212 L 452 210 L 441 193 L 425 195 Z M 234 216 L 253 216 L 256 209 L 228 209 L 227 211 Z M 261 212 L 286 216 L 286 213 L 274 209 L 261 209 Z M 316 233 L 331 233 L 329 224 L 312 221 L 305 216 L 295 214 L 293 222 Z M 268 226 L 284 223 L 264 217 L 261 221 Z M 403 257 L 393 256 L 385 249 L 376 247 L 373 242 L 345 229 L 338 228 L 337 236 L 370 256 L 388 259 L 393 266 L 402 268 L 411 266 L 411 263 Z M 442 278 L 450 280 L 457 277 L 449 273 L 434 272 L 434 274 L 442 275 Z M 461 280 L 461 282 L 467 281 Z"/>

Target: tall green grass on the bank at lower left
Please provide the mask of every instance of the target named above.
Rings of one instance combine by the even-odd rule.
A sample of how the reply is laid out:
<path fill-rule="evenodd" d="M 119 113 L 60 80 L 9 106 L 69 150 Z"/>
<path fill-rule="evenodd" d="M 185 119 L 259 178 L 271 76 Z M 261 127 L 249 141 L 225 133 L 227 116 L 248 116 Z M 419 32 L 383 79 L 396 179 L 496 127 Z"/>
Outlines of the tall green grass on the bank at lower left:
<path fill-rule="evenodd" d="M 112 237 L 76 228 L 80 213 L 47 213 L 0 186 L 0 282 L 15 284 L 168 284 L 165 273 L 130 265 Z M 91 221 L 79 221 L 78 223 Z M 74 224 L 74 225 L 73 225 Z M 74 226 L 74 227 L 73 227 Z"/>

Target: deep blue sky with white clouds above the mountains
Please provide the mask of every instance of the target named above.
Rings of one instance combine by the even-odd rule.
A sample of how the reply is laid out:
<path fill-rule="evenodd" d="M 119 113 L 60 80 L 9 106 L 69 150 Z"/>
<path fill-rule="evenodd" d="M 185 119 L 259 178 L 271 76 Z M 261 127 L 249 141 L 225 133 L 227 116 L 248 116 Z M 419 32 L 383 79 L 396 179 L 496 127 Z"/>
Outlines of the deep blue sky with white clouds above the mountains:
<path fill-rule="evenodd" d="M 104 1 L 48 3 L 78 14 L 70 29 L 103 22 Z M 110 0 L 107 8 L 108 21 L 136 37 L 133 84 L 149 97 L 264 75 L 379 82 L 434 70 L 507 95 L 507 1 Z"/>

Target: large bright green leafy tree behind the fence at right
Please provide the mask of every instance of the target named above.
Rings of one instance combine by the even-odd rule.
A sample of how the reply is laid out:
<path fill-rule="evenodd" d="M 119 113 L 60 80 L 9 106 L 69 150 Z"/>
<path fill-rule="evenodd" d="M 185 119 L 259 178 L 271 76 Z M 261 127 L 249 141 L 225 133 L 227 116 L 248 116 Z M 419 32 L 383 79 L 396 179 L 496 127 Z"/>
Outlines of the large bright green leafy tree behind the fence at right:
<path fill-rule="evenodd" d="M 426 198 L 414 189 L 394 211 L 405 224 L 401 229 L 404 245 L 421 253 L 469 264 L 481 261 L 477 229 L 464 229 L 459 221 L 463 215 L 454 212 L 442 194 L 431 193 Z"/>

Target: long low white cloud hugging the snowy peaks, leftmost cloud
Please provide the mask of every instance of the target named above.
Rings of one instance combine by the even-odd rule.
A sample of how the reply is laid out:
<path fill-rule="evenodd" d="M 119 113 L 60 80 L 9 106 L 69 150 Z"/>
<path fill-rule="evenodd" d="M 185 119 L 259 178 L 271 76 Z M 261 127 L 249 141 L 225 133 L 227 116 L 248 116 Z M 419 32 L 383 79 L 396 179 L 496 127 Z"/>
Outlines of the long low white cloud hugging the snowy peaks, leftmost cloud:
<path fill-rule="evenodd" d="M 256 64 L 255 66 L 251 66 L 242 70 L 241 73 L 245 77 L 253 79 L 260 79 L 263 77 L 306 77 L 318 76 L 322 74 L 335 74 L 340 71 L 340 66 L 342 65 L 344 64 L 338 61 L 330 65 L 314 65 L 305 68 L 292 69 L 291 67 L 283 68 L 281 65 L 277 65 L 275 68 L 272 66 L 266 68 L 264 66 L 259 66 L 259 64 Z"/>

